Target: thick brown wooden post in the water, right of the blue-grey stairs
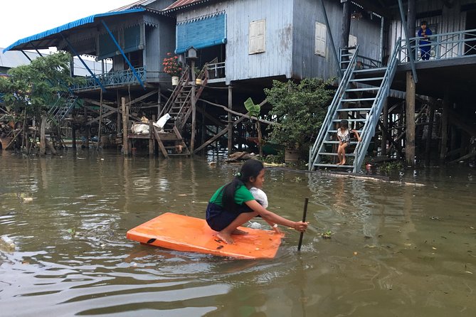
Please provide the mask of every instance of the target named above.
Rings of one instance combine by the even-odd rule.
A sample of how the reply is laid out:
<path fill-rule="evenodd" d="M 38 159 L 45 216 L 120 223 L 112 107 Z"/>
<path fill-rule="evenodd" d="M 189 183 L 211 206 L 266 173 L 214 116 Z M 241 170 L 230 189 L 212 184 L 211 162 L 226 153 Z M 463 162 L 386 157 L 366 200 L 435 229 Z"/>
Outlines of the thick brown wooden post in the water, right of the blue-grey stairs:
<path fill-rule="evenodd" d="M 415 164 L 415 82 L 411 72 L 406 72 L 406 142 L 405 159 L 406 163 L 413 166 Z"/>

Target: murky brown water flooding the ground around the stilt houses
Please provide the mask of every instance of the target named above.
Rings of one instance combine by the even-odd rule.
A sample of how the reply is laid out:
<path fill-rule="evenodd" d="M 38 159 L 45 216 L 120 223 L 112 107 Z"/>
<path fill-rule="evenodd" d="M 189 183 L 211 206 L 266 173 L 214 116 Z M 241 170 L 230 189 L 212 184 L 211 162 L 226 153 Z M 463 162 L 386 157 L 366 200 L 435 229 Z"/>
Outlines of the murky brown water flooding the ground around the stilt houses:
<path fill-rule="evenodd" d="M 267 168 L 270 210 L 299 220 L 310 198 L 301 252 L 299 234 L 282 228 L 275 259 L 125 238 L 162 213 L 204 217 L 237 171 L 211 161 L 1 153 L 0 235 L 16 248 L 0 252 L 0 315 L 476 316 L 475 168 L 396 182 Z"/>

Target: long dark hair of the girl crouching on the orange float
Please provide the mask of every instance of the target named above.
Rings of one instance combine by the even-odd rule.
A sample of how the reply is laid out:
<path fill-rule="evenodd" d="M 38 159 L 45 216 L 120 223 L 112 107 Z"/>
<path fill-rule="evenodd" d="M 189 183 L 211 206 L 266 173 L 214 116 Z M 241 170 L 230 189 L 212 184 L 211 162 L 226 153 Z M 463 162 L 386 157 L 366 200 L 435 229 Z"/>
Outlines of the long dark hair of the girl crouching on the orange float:
<path fill-rule="evenodd" d="M 236 210 L 235 192 L 238 186 L 244 186 L 246 182 L 250 181 L 251 177 L 257 177 L 260 171 L 265 168 L 261 161 L 249 159 L 241 166 L 240 171 L 236 174 L 233 181 L 223 187 L 223 209 Z"/>

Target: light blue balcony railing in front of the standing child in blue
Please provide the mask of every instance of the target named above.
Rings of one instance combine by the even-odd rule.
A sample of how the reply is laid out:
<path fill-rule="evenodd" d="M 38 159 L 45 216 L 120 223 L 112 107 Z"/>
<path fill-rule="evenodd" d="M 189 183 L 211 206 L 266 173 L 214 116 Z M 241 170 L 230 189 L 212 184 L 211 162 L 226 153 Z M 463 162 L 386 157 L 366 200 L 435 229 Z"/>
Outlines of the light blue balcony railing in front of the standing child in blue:
<path fill-rule="evenodd" d="M 415 61 L 421 59 L 421 48 L 430 45 L 430 60 L 440 60 L 444 58 L 460 58 L 467 55 L 476 54 L 476 29 L 433 34 L 429 36 L 430 43 L 421 43 L 423 38 L 409 38 L 411 53 Z M 398 54 L 400 63 L 407 63 L 408 46 L 405 40 L 401 40 L 401 50 Z"/>

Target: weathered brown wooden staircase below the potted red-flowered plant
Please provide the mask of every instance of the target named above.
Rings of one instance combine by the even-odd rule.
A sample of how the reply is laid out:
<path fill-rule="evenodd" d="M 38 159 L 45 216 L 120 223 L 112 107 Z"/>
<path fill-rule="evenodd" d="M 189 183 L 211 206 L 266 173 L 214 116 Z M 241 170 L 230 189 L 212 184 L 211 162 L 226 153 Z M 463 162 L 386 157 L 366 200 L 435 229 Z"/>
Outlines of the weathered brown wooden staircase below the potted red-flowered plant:
<path fill-rule="evenodd" d="M 154 127 L 155 139 L 157 139 L 159 149 L 165 157 L 187 156 L 191 154 L 181 134 L 193 111 L 193 86 L 196 87 L 195 100 L 199 100 L 208 80 L 208 72 L 205 65 L 199 75 L 196 76 L 196 78 L 201 79 L 201 85 L 196 85 L 195 82 L 190 81 L 189 72 L 190 68 L 187 66 L 180 77 L 179 85 L 176 85 L 162 112 L 159 114 L 159 117 L 167 113 L 170 115 L 170 119 L 165 124 L 164 129 L 159 131 L 157 127 Z"/>

